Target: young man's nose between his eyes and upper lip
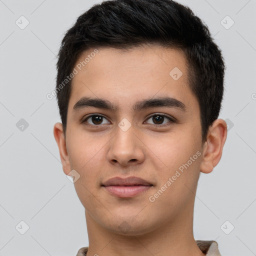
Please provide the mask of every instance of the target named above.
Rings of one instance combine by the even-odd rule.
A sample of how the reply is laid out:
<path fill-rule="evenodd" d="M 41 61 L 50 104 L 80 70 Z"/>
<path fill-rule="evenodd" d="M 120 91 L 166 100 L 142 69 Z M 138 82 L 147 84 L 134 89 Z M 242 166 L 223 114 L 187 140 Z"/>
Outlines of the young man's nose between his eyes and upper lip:
<path fill-rule="evenodd" d="M 107 160 L 122 166 L 136 165 L 144 161 L 145 147 L 139 135 L 131 126 L 124 131 L 117 127 L 115 136 L 109 141 Z"/>

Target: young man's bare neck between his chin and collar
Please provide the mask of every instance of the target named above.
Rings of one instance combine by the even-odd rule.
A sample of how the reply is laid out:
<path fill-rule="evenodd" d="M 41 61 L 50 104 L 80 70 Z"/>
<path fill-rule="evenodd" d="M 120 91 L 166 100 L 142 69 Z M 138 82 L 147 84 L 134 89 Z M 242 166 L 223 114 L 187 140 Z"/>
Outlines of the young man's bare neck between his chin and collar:
<path fill-rule="evenodd" d="M 189 206 L 189 205 L 187 205 Z M 193 237 L 193 203 L 168 223 L 137 234 L 119 234 L 99 225 L 85 210 L 89 248 L 87 256 L 205 255 Z"/>

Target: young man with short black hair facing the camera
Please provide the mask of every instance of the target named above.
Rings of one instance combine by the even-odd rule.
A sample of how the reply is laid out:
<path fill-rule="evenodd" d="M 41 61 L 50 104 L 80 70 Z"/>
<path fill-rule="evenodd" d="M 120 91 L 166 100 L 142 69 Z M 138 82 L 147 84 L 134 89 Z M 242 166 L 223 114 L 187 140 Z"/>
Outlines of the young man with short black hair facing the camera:
<path fill-rule="evenodd" d="M 57 62 L 63 171 L 85 208 L 77 256 L 220 255 L 194 240 L 199 173 L 219 162 L 224 62 L 171 0 L 111 0 L 66 32 Z"/>

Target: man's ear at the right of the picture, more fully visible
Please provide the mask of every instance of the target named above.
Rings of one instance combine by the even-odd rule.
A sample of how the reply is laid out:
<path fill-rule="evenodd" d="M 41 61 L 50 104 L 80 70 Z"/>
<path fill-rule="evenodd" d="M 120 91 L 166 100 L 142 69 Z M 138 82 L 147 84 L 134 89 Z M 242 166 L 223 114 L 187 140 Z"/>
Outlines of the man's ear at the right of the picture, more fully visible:
<path fill-rule="evenodd" d="M 227 124 L 223 119 L 216 119 L 209 127 L 207 139 L 203 144 L 203 156 L 200 171 L 209 173 L 218 164 L 227 135 Z"/>

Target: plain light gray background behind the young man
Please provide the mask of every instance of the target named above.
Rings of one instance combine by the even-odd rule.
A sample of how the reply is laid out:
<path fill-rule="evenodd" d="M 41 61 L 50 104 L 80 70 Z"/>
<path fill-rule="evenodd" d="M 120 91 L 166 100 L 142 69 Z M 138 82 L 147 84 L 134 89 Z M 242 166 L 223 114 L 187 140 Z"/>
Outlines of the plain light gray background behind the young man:
<path fill-rule="evenodd" d="M 53 137 L 57 104 L 46 94 L 55 86 L 63 33 L 98 2 L 0 0 L 0 256 L 71 256 L 88 245 L 84 208 Z M 216 240 L 223 256 L 256 255 L 256 1 L 179 2 L 205 21 L 222 49 L 227 69 L 219 117 L 233 123 L 220 162 L 198 181 L 194 236 Z M 21 15 L 29 21 L 24 29 L 15 24 Z M 226 15 L 234 21 L 229 29 L 221 24 Z M 16 126 L 21 118 L 28 123 L 23 131 Z M 24 228 L 21 220 L 29 226 L 24 234 L 15 229 Z"/>

